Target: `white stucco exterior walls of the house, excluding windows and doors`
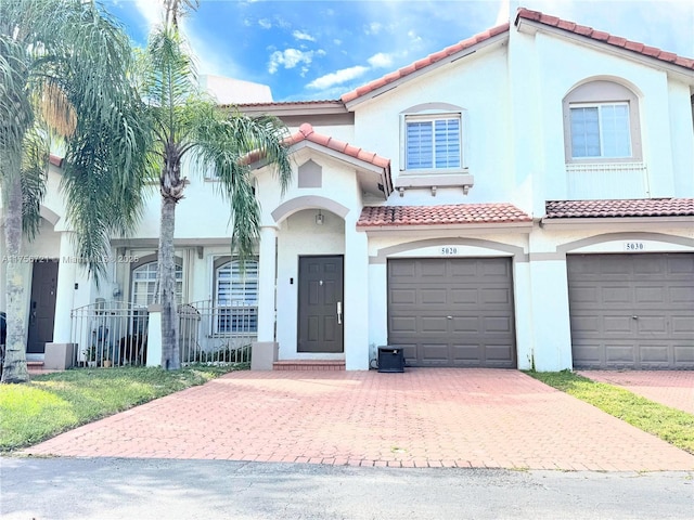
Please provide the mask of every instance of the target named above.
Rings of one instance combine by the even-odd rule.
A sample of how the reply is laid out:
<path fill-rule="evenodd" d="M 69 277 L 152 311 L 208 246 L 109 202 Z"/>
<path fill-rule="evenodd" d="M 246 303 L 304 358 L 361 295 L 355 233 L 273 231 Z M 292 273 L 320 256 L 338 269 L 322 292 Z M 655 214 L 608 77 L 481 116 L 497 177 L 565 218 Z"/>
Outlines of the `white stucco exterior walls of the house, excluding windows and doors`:
<path fill-rule="evenodd" d="M 617 81 L 639 99 L 643 161 L 652 197 L 694 197 L 694 131 L 690 78 L 648 66 L 621 52 L 604 52 L 578 37 L 547 31 L 529 34 L 511 27 L 509 39 L 479 49 L 453 63 L 400 82 L 355 106 L 355 123 L 314 125 L 314 131 L 391 160 L 394 182 L 407 177 L 400 165 L 400 115 L 425 103 L 464 109 L 464 153 L 474 186 L 396 191 L 387 200 L 365 194 L 357 180 L 359 166 L 310 143 L 296 146 L 294 178 L 281 193 L 269 168 L 255 172 L 261 205 L 258 341 L 279 344 L 280 360 L 340 359 L 348 369 L 367 369 L 386 344 L 387 260 L 441 257 L 441 246 L 455 245 L 460 257 L 511 257 L 518 368 L 571 368 L 570 313 L 566 256 L 627 252 L 639 243 L 643 252 L 694 251 L 694 229 L 685 219 L 612 219 L 542 221 L 545 202 L 566 199 L 563 100 L 591 80 Z M 295 116 L 292 116 L 295 117 Z M 330 116 L 316 116 L 330 121 Z M 298 127 L 291 127 L 295 132 Z M 319 187 L 298 187 L 297 169 L 307 160 L 321 167 Z M 215 259 L 230 251 L 229 202 L 218 183 L 184 165 L 190 184 L 177 208 L 176 256 L 183 266 L 183 302 L 214 299 Z M 445 176 L 445 173 L 444 173 Z M 59 191 L 60 170 L 51 166 L 40 235 L 23 245 L 27 256 L 56 258 L 59 298 L 54 341 L 69 341 L 69 311 L 97 297 L 130 301 L 131 269 L 113 262 L 98 290 L 82 269 L 64 261 L 74 256 Z M 442 205 L 512 203 L 529 213 L 527 227 L 461 227 L 363 232 L 356 224 L 364 204 Z M 160 198 L 156 185 L 142 222 L 128 240 L 115 240 L 114 258 L 155 255 Z M 324 223 L 317 225 L 321 211 Z M 277 240 L 277 245 L 275 245 Z M 638 252 L 634 252 L 638 253 Z M 298 259 L 307 255 L 345 257 L 345 352 L 298 353 Z M 0 284 L 4 283 L 0 264 Z M 26 264 L 26 312 L 31 265 Z M 77 284 L 77 288 L 75 287 Z M 0 309 L 5 295 L 0 292 Z M 28 321 L 27 321 L 28 322 Z"/>

